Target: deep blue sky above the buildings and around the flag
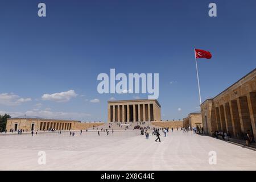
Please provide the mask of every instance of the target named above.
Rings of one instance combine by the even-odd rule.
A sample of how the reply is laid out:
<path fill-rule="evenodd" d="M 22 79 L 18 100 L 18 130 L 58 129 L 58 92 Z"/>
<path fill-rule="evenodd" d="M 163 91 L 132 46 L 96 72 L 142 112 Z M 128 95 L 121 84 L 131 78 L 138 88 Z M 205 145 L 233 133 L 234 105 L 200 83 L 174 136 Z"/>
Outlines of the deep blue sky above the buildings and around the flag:
<path fill-rule="evenodd" d="M 1 1 L 0 114 L 106 121 L 110 98 L 147 98 L 99 94 L 110 68 L 159 73 L 162 119 L 199 110 L 193 46 L 213 55 L 198 60 L 203 101 L 256 65 L 256 1 L 214 1 L 212 18 L 210 2 Z"/>

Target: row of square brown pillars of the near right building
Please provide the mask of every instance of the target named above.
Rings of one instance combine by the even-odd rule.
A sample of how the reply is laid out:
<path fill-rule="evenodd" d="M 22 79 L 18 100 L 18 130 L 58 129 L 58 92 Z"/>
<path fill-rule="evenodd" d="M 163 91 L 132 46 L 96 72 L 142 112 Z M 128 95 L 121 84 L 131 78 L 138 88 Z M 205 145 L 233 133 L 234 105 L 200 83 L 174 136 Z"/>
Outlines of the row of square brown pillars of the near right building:
<path fill-rule="evenodd" d="M 250 130 L 256 135 L 256 92 L 250 92 L 235 100 L 224 103 L 213 101 L 213 117 L 211 125 L 213 131 L 223 131 L 237 138 Z M 205 116 L 205 119 L 206 116 Z M 207 122 L 206 122 L 207 123 Z"/>

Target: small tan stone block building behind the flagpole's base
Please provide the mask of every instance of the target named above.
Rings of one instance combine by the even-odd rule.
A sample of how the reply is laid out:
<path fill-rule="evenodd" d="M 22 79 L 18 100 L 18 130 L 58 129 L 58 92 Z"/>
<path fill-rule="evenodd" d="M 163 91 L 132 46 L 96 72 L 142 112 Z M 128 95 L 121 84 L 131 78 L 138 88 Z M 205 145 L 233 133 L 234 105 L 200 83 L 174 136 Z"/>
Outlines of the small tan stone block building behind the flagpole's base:
<path fill-rule="evenodd" d="M 203 127 L 201 113 L 189 113 L 187 118 L 183 119 L 183 127 Z"/>

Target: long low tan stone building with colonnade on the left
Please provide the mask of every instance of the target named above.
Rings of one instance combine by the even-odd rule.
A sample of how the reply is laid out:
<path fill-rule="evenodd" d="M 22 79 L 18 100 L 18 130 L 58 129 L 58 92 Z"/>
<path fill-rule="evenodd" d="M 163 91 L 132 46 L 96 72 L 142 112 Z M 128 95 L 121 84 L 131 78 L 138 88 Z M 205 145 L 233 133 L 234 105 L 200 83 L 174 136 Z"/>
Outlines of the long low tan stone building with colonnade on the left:
<path fill-rule="evenodd" d="M 6 123 L 6 130 L 24 131 L 38 130 L 44 131 L 48 129 L 55 130 L 81 130 L 93 126 L 103 125 L 104 123 L 84 123 L 73 120 L 60 120 L 60 119 L 39 119 L 39 118 L 9 118 Z"/>

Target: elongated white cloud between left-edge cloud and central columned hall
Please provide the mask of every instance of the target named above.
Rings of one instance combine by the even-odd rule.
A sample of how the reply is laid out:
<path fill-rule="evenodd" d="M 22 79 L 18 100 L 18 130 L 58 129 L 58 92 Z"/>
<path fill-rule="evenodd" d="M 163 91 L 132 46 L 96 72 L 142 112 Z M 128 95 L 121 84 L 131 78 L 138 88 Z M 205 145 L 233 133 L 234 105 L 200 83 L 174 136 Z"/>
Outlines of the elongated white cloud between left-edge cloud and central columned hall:
<path fill-rule="evenodd" d="M 67 102 L 71 98 L 76 97 L 77 94 L 74 90 L 68 90 L 67 92 L 59 92 L 53 94 L 43 94 L 42 100 L 56 101 L 56 102 Z"/>

